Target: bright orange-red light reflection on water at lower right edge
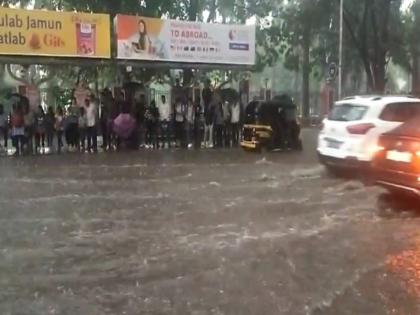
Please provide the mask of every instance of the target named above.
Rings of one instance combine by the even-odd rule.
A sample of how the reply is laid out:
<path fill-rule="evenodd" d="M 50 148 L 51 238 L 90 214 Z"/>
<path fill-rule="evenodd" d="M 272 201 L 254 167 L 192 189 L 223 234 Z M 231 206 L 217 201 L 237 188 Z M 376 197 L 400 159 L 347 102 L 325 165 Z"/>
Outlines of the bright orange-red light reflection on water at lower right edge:
<path fill-rule="evenodd" d="M 420 299 L 420 236 L 413 249 L 389 256 L 386 266 L 398 275 L 409 294 Z"/>

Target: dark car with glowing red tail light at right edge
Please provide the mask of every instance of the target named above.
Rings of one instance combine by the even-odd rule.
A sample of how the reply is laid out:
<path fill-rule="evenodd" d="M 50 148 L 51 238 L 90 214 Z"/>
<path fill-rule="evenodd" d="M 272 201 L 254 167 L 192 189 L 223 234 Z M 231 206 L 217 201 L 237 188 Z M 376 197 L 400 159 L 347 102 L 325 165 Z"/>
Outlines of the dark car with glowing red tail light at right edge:
<path fill-rule="evenodd" d="M 379 185 L 420 197 L 420 117 L 379 138 L 372 166 Z"/>

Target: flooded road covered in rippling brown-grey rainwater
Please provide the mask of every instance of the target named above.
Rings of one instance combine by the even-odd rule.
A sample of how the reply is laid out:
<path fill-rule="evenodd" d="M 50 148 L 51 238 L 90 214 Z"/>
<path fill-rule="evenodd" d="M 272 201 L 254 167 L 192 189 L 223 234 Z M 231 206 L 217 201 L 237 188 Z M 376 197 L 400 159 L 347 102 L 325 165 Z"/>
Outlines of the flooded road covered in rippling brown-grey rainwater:
<path fill-rule="evenodd" d="M 420 211 L 303 153 L 0 159 L 0 314 L 420 314 Z"/>

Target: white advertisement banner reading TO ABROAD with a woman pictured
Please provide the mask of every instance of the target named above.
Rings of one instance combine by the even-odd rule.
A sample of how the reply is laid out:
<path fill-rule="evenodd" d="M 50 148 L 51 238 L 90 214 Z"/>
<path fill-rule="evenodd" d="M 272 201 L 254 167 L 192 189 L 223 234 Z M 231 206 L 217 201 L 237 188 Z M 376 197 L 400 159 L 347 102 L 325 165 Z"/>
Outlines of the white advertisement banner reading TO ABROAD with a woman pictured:
<path fill-rule="evenodd" d="M 255 26 L 117 15 L 118 59 L 255 64 Z"/>

